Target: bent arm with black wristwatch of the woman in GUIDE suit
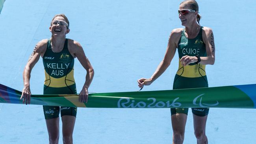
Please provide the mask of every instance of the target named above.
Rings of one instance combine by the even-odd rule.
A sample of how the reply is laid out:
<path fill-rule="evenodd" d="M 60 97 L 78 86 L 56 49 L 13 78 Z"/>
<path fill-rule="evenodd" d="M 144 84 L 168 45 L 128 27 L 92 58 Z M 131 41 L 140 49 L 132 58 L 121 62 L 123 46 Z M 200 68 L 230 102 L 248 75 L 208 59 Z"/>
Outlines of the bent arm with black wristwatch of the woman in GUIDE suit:
<path fill-rule="evenodd" d="M 215 44 L 211 28 L 204 27 L 202 31 L 202 39 L 205 43 L 207 56 L 200 57 L 201 61 L 199 63 L 203 65 L 213 65 L 215 62 Z M 185 55 L 180 59 L 180 61 L 185 66 L 190 63 L 196 63 L 198 59 L 195 56 Z"/>

